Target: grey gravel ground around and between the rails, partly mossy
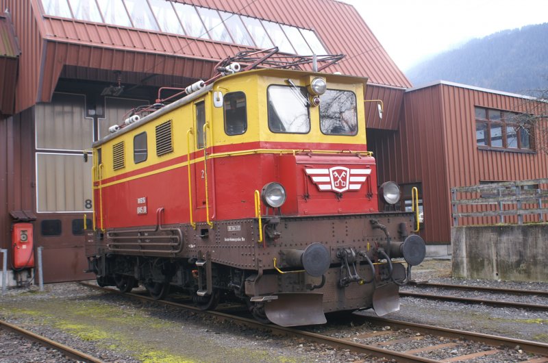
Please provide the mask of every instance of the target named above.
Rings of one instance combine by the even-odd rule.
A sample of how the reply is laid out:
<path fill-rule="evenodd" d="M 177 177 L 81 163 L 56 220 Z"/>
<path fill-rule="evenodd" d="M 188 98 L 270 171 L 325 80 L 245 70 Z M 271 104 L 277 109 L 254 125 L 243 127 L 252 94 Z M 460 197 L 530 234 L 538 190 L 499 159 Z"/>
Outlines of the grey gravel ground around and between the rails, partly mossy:
<path fill-rule="evenodd" d="M 548 284 L 542 283 L 451 279 L 450 266 L 449 260 L 426 260 L 421 266 L 414 267 L 412 277 L 416 281 L 429 280 L 445 284 L 548 289 Z M 512 295 L 506 299 L 511 301 Z M 374 316 L 370 310 L 360 314 Z M 463 308 L 459 303 L 404 297 L 401 299 L 401 310 L 386 317 L 548 342 L 546 312 L 491 308 L 486 305 L 466 305 Z M 234 327 L 195 312 L 168 308 L 157 303 L 142 303 L 75 283 L 49 284 L 45 286 L 44 292 L 39 292 L 36 286 L 25 290 L 10 289 L 5 296 L 0 297 L 0 318 L 107 362 L 385 362 L 304 340 Z M 328 316 L 327 325 L 307 328 L 340 338 L 351 338 L 378 329 L 369 323 L 357 324 L 351 317 L 338 318 L 337 315 Z M 11 339 L 5 332 L 2 331 L 2 334 L 2 340 Z M 406 332 L 399 331 L 397 334 L 405 336 Z M 16 336 L 14 339 L 21 340 Z M 424 342 L 429 339 L 427 336 L 421 337 Z M 371 344 L 369 340 L 356 342 Z M 401 343 L 400 348 L 414 349 L 417 344 L 411 340 Z M 32 360 L 30 354 L 31 358 L 26 360 L 28 362 L 71 362 L 62 360 L 55 352 L 51 352 L 50 358 L 49 349 L 43 350 L 29 342 L 16 341 L 14 345 L 31 352 L 42 349 L 42 360 Z M 13 360 L 15 353 L 5 347 L 0 346 L 0 362 L 16 362 Z M 472 351 L 478 347 L 470 345 L 469 349 Z M 460 347 L 459 351 L 447 349 L 439 354 L 440 357 L 460 355 L 462 349 L 466 348 Z M 516 360 L 519 360 L 523 351 L 515 347 L 507 352 L 506 357 L 508 354 L 514 354 Z M 489 355 L 475 361 L 501 362 L 501 355 Z"/>

